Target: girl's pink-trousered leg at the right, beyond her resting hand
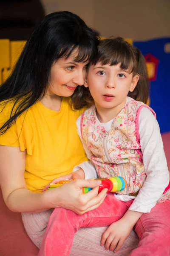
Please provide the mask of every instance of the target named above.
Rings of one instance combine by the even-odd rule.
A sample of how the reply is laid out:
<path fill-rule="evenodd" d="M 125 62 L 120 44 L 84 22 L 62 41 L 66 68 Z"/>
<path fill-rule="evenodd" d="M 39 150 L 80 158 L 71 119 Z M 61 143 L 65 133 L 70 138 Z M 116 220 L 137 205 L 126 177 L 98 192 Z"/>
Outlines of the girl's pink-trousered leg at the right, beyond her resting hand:
<path fill-rule="evenodd" d="M 170 256 L 170 200 L 142 215 L 135 231 L 140 241 L 130 256 Z"/>

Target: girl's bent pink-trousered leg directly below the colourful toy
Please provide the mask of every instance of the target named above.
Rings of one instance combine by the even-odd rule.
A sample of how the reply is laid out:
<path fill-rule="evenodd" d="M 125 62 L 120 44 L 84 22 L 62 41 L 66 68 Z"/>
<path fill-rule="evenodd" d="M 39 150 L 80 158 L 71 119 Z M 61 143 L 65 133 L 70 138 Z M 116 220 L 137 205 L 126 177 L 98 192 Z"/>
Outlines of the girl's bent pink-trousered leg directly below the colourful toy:
<path fill-rule="evenodd" d="M 131 203 L 133 200 L 131 200 Z M 128 203 L 128 207 L 131 204 Z M 107 195 L 97 209 L 77 215 L 75 212 L 54 209 L 40 247 L 39 256 L 68 256 L 74 234 L 80 227 L 106 227 L 119 220 L 128 209 L 126 202 L 119 201 L 113 194 Z"/>

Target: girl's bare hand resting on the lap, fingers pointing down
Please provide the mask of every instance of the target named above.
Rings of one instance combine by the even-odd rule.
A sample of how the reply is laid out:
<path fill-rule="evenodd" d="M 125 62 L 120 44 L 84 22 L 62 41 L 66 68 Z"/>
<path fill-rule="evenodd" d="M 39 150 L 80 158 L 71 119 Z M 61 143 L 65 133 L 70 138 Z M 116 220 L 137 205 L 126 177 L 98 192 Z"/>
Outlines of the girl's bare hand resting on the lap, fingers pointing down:
<path fill-rule="evenodd" d="M 113 251 L 115 248 L 114 253 L 118 252 L 132 228 L 133 226 L 129 225 L 128 221 L 121 218 L 119 221 L 112 223 L 103 233 L 101 245 L 105 245 L 105 250 Z"/>

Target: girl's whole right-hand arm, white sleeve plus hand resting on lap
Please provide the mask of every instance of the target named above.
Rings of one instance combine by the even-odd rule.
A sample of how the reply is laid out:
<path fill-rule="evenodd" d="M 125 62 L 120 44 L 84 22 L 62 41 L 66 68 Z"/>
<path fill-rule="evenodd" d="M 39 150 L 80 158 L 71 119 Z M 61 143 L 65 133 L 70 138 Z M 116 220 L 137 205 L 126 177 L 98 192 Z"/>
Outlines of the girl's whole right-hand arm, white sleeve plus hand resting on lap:
<path fill-rule="evenodd" d="M 142 214 L 150 212 L 155 206 L 169 183 L 169 172 L 159 125 L 148 108 L 141 110 L 139 134 L 147 178 L 125 215 L 111 224 L 102 235 L 101 245 L 105 244 L 107 250 L 113 250 L 116 247 L 115 253 L 120 249 Z"/>

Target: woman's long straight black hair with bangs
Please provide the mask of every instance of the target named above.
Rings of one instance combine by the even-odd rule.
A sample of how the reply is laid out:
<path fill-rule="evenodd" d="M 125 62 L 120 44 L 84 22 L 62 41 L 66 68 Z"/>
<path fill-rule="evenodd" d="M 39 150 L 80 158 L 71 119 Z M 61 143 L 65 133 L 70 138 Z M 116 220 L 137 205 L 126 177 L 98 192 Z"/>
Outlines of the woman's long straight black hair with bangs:
<path fill-rule="evenodd" d="M 3 134 L 18 116 L 40 100 L 48 87 L 50 70 L 54 61 L 68 58 L 74 49 L 78 54 L 74 61 L 94 59 L 98 45 L 97 33 L 71 12 L 54 12 L 47 15 L 34 29 L 11 76 L 0 86 L 0 104 L 12 101 L 9 119 L 0 128 Z M 78 86 L 72 96 L 74 108 L 86 105 L 83 86 Z"/>

